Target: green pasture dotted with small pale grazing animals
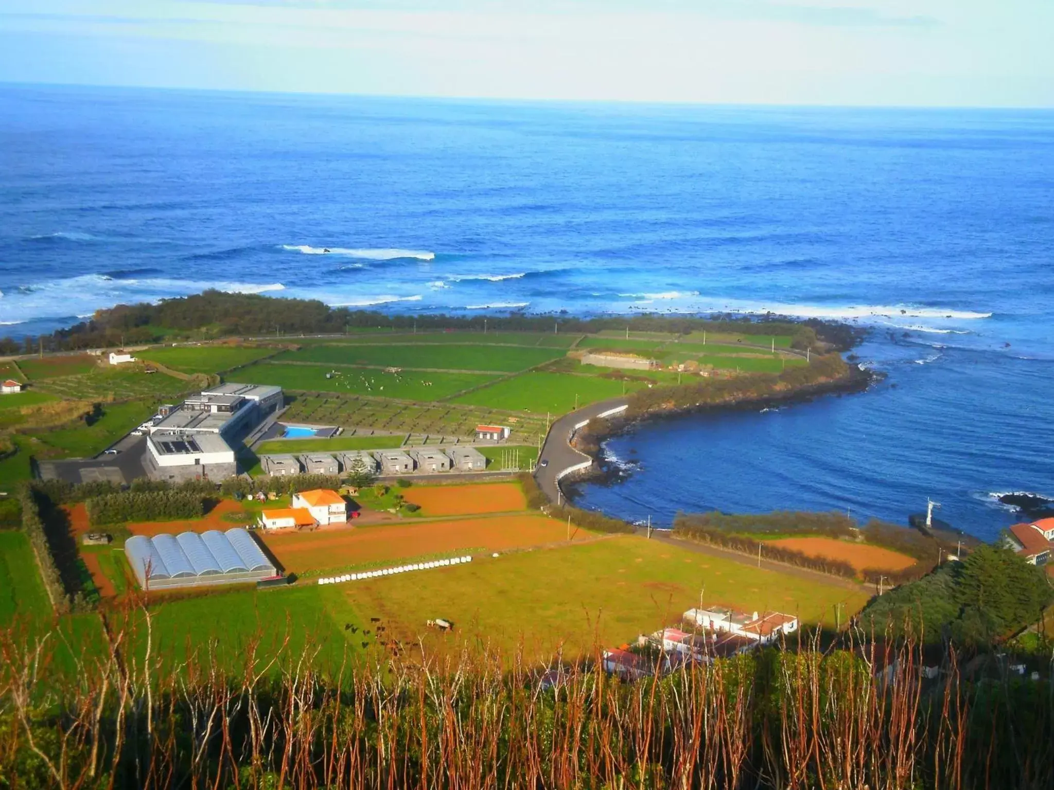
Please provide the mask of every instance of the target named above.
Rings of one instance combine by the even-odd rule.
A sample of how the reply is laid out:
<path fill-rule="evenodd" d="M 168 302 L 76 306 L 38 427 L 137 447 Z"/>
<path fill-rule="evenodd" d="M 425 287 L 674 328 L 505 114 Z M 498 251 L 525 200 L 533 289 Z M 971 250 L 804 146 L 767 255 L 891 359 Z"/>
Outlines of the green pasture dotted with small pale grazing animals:
<path fill-rule="evenodd" d="M 494 379 L 494 376 L 479 373 L 384 373 L 353 369 L 345 369 L 333 378 L 326 378 L 329 372 L 329 368 L 317 364 L 258 362 L 238 371 L 238 380 L 254 384 L 277 384 L 287 390 L 441 400 Z"/>

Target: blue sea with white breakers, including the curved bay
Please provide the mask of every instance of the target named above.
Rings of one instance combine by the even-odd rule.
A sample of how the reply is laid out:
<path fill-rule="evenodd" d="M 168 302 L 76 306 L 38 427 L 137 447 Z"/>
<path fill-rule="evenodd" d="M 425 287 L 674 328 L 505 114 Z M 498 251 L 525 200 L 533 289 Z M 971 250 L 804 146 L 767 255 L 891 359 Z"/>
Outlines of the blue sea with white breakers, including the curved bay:
<path fill-rule="evenodd" d="M 653 423 L 581 501 L 984 537 L 1054 494 L 1054 113 L 0 86 L 0 331 L 219 288 L 386 311 L 774 310 L 870 392 Z M 330 252 L 323 252 L 329 250 Z"/>

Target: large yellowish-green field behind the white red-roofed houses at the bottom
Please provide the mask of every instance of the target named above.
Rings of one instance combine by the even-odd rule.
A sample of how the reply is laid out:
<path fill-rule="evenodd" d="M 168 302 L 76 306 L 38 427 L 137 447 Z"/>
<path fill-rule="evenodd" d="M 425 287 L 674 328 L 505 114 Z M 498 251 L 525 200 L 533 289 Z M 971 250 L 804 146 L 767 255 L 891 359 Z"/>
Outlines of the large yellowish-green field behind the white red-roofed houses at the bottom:
<path fill-rule="evenodd" d="M 404 643 L 435 639 L 425 620 L 452 620 L 458 638 L 530 656 L 565 657 L 632 641 L 676 623 L 704 603 L 747 611 L 775 609 L 803 623 L 834 619 L 834 605 L 853 613 L 862 593 L 697 554 L 637 536 L 482 557 L 441 572 L 409 573 L 334 586 L 362 619 L 380 617 Z M 479 640 L 479 641 L 477 641 Z"/>

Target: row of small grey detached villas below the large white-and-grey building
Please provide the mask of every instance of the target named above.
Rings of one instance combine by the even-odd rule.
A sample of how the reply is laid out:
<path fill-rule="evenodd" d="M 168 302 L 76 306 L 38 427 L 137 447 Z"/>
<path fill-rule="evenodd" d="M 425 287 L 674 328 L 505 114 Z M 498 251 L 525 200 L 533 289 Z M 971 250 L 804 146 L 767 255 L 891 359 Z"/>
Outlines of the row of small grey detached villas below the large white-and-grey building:
<path fill-rule="evenodd" d="M 487 458 L 472 447 L 419 448 L 415 450 L 354 450 L 338 453 L 277 454 L 260 456 L 265 474 L 348 474 L 365 469 L 371 474 L 398 475 L 411 472 L 482 472 Z"/>

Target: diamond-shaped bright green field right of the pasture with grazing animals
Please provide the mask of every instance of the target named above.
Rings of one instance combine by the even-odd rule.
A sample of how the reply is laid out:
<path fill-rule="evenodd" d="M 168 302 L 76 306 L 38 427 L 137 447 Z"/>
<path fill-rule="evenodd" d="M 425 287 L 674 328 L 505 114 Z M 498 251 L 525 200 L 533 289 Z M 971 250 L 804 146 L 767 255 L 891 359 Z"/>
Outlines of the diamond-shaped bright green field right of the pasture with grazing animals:
<path fill-rule="evenodd" d="M 641 381 L 627 381 L 625 392 L 632 392 L 646 386 Z M 575 395 L 578 404 L 582 407 L 622 394 L 622 381 L 596 376 L 532 371 L 453 398 L 453 402 L 535 414 L 551 412 L 558 415 L 574 409 Z"/>

